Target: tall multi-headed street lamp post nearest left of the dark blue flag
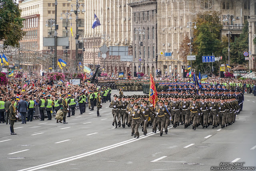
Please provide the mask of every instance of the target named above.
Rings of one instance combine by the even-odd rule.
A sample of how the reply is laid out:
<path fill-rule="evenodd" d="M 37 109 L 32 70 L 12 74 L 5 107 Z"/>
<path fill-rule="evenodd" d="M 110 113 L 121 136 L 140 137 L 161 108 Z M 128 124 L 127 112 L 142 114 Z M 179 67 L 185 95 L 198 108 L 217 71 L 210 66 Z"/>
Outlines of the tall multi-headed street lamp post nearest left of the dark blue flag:
<path fill-rule="evenodd" d="M 72 0 L 68 0 L 68 2 L 71 2 Z M 81 12 L 80 10 L 80 6 L 83 6 L 83 9 L 82 9 L 82 14 L 85 13 L 85 10 L 84 10 L 84 4 L 79 4 L 78 1 L 81 1 L 83 2 L 84 0 L 76 0 L 76 4 L 71 4 L 71 10 L 70 12 L 71 13 L 75 13 L 76 14 L 76 62 L 75 62 L 75 66 L 77 65 L 78 63 L 78 38 L 79 38 L 79 35 L 78 35 L 78 14 Z M 76 6 L 76 10 L 73 10 L 73 6 Z"/>

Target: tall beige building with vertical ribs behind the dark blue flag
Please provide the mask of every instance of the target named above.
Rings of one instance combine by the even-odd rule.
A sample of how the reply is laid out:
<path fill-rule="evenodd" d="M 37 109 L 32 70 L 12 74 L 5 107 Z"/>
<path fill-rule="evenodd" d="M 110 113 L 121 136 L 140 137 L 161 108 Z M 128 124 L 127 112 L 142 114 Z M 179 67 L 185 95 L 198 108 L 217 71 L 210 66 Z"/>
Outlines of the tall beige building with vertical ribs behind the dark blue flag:
<path fill-rule="evenodd" d="M 95 58 L 95 65 L 104 68 L 108 74 L 124 72 L 126 75 L 132 70 L 132 62 L 122 62 L 120 56 L 110 56 L 107 53 L 105 62 L 102 57 L 98 57 L 99 48 L 103 44 L 107 47 L 128 46 L 128 53 L 132 55 L 133 35 L 130 31 L 132 18 L 128 2 L 128 0 L 86 0 L 84 65 L 93 68 Z M 101 26 L 93 29 L 94 14 L 100 20 Z M 93 47 L 94 41 L 95 47 Z"/>

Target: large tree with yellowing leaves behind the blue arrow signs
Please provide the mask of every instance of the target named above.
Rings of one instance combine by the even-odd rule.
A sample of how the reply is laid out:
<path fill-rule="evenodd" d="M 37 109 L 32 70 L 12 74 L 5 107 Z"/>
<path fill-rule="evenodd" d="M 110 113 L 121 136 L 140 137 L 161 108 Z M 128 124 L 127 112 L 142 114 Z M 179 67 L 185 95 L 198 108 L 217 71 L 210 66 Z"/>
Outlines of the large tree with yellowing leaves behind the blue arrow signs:
<path fill-rule="evenodd" d="M 202 56 L 212 55 L 221 56 L 222 54 L 222 40 L 221 29 L 222 24 L 219 19 L 219 12 L 213 11 L 199 13 L 196 16 L 197 29 L 194 30 L 194 42 L 192 43 L 194 48 L 194 54 L 196 54 L 196 61 L 193 65 L 198 66 L 197 70 L 206 71 L 208 74 L 211 72 L 211 68 L 206 63 L 202 64 Z M 213 66 L 218 68 L 216 63 Z M 206 70 L 206 68 L 209 68 Z M 198 71 L 197 71 L 198 72 Z M 218 73 L 218 71 L 214 71 Z"/>

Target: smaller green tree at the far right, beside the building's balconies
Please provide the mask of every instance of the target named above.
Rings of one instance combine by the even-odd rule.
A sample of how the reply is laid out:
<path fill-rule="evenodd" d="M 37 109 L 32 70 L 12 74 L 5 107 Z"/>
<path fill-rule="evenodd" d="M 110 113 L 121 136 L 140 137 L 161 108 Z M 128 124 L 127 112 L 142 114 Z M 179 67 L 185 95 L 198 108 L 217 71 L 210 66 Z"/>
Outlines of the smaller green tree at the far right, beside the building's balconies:
<path fill-rule="evenodd" d="M 248 21 L 244 23 L 242 34 L 237 38 L 235 37 L 234 42 L 230 43 L 230 62 L 232 64 L 244 64 L 244 52 L 249 50 L 249 28 Z"/>

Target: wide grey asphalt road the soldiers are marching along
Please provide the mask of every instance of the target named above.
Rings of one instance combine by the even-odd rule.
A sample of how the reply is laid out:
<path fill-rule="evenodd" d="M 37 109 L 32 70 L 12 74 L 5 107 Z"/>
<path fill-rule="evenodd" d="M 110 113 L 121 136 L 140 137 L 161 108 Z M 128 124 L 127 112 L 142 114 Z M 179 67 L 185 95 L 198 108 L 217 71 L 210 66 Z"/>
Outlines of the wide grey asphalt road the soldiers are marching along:
<path fill-rule="evenodd" d="M 112 96 L 117 91 L 112 91 Z M 124 95 L 142 92 L 124 92 Z M 131 136 L 130 127 L 112 126 L 111 109 L 103 103 L 101 117 L 96 110 L 68 117 L 68 124 L 56 120 L 33 120 L 14 124 L 18 135 L 10 135 L 9 125 L 0 124 L 1 171 L 165 171 L 223 167 L 237 162 L 256 167 L 256 98 L 245 94 L 244 108 L 236 122 L 224 129 L 211 127 L 196 131 L 183 125 L 168 134 Z M 226 166 L 234 167 L 234 166 Z M 236 166 L 237 167 L 237 166 Z M 241 166 L 239 166 L 241 167 Z M 255 169 L 254 169 L 255 170 Z"/>

